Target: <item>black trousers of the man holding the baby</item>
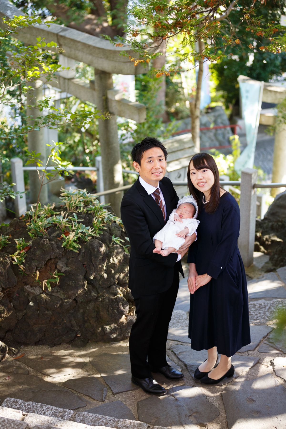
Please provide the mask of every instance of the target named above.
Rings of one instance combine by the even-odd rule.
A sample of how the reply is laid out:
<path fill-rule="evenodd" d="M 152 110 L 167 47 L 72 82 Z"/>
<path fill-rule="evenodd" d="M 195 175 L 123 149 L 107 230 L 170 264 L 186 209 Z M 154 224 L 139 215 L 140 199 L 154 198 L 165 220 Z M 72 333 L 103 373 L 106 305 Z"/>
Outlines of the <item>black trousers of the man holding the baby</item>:
<path fill-rule="evenodd" d="M 175 267 L 172 286 L 165 292 L 133 294 L 137 317 L 130 332 L 129 354 L 134 377 L 151 377 L 148 364 L 156 368 L 167 365 L 166 342 L 178 288 L 179 272 Z"/>

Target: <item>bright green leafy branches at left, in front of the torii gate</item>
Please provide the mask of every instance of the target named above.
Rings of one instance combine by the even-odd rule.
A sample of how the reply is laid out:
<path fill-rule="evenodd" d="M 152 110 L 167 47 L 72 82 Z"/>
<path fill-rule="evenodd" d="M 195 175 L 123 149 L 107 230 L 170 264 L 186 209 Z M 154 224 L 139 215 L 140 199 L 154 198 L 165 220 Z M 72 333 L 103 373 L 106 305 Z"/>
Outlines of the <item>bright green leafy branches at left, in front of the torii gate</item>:
<path fill-rule="evenodd" d="M 12 19 L 2 18 L 2 26 L 0 27 L 0 62 L 3 66 L 0 69 L 0 103 L 2 109 L 10 112 L 9 121 L 1 120 L 0 123 L 0 141 L 2 142 L 2 153 L 0 163 L 7 162 L 5 157 L 8 149 L 16 151 L 27 149 L 26 140 L 27 134 L 34 130 L 39 130 L 42 127 L 55 128 L 62 127 L 86 127 L 93 124 L 96 118 L 105 117 L 95 109 L 78 109 L 76 114 L 72 110 L 66 108 L 56 108 L 53 104 L 52 97 L 43 97 L 33 105 L 27 105 L 27 95 L 33 91 L 36 81 L 42 80 L 49 82 L 56 72 L 63 69 L 58 63 L 57 52 L 51 51 L 51 48 L 60 49 L 55 42 L 46 43 L 44 39 L 38 37 L 35 45 L 25 46 L 23 43 L 15 39 L 15 34 L 18 29 L 23 27 L 31 27 L 42 23 L 41 18 L 18 16 Z M 49 25 L 49 22 L 45 22 Z M 7 59 L 8 58 L 8 59 Z M 27 108 L 36 108 L 39 112 L 45 112 L 45 115 L 38 117 L 29 116 L 26 114 Z M 11 118 L 11 112 L 14 116 L 14 121 Z M 19 144 L 22 142 L 22 144 Z M 55 147 L 58 143 L 55 142 Z M 36 166 L 42 166 L 39 162 L 40 154 L 28 152 L 27 158 L 30 158 L 29 163 L 34 163 Z M 50 158 L 54 161 L 55 168 L 60 169 L 66 174 L 66 165 L 60 159 L 59 148 L 51 148 Z M 0 171 L 1 174 L 1 171 Z M 1 176 L 2 177 L 2 176 Z M 39 175 L 42 189 L 43 178 L 48 177 L 46 168 L 43 170 L 42 176 Z M 12 188 L 2 184 L 0 187 L 0 200 L 5 196 L 15 197 Z M 39 197 L 38 197 L 39 201 Z"/>

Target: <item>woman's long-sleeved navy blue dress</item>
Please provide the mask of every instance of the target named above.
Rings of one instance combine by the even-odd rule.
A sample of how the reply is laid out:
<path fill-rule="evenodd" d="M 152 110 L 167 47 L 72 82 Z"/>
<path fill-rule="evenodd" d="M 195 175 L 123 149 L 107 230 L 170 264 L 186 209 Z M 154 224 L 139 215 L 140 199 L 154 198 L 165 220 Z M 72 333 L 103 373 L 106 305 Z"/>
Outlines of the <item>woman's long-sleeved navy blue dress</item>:
<path fill-rule="evenodd" d="M 190 297 L 189 338 L 194 350 L 217 346 L 233 356 L 250 343 L 247 281 L 238 250 L 240 212 L 230 193 L 220 197 L 217 210 L 199 215 L 198 239 L 190 246 L 188 262 L 211 281 Z"/>

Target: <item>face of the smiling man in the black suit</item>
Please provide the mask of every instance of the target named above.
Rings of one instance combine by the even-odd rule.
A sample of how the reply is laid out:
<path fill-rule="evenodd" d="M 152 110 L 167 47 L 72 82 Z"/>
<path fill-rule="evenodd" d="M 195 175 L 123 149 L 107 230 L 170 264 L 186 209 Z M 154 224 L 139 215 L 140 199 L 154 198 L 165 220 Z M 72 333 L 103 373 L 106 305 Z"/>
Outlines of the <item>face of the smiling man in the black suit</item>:
<path fill-rule="evenodd" d="M 141 165 L 133 162 L 133 167 L 140 174 L 145 182 L 154 187 L 158 187 L 159 180 L 163 179 L 166 173 L 166 160 L 162 149 L 151 148 L 143 153 Z"/>

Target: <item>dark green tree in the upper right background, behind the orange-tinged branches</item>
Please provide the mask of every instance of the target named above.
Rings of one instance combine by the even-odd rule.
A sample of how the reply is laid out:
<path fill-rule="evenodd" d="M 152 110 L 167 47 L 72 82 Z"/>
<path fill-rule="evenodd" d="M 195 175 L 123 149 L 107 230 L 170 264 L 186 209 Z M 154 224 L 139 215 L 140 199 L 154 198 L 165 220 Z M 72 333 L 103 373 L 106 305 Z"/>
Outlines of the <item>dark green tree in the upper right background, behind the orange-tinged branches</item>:
<path fill-rule="evenodd" d="M 244 0 L 244 5 L 247 7 L 250 7 L 251 3 L 250 0 Z M 268 82 L 269 79 L 281 76 L 286 71 L 286 52 L 282 51 L 276 55 L 271 51 L 271 46 L 270 50 L 265 49 L 275 41 L 281 40 L 283 44 L 281 39 L 283 28 L 280 28 L 279 23 L 285 7 L 285 1 L 268 1 L 260 7 L 256 5 L 256 15 L 260 15 L 260 26 L 267 27 L 268 23 L 277 26 L 273 33 L 276 36 L 275 39 L 271 36 L 264 37 L 260 29 L 246 31 L 245 27 L 240 25 L 239 11 L 233 10 L 231 21 L 236 29 L 239 43 L 229 46 L 226 57 L 212 64 L 212 72 L 215 73 L 218 82 L 217 89 L 223 92 L 226 103 L 238 106 L 237 78 L 239 75 Z M 223 53 L 223 50 L 219 49 L 218 53 Z"/>

